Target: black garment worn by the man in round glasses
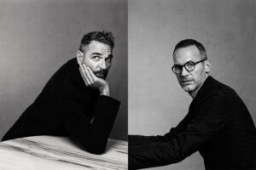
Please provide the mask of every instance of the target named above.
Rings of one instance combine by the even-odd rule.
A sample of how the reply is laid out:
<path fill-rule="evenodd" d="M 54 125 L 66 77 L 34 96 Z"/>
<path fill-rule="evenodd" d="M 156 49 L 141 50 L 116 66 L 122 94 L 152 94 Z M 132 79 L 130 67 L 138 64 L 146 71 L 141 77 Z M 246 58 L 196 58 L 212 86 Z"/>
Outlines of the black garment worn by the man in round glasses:
<path fill-rule="evenodd" d="M 189 113 L 164 136 L 129 136 L 129 169 L 164 166 L 199 150 L 207 170 L 256 169 L 256 129 L 230 87 L 207 77 Z"/>

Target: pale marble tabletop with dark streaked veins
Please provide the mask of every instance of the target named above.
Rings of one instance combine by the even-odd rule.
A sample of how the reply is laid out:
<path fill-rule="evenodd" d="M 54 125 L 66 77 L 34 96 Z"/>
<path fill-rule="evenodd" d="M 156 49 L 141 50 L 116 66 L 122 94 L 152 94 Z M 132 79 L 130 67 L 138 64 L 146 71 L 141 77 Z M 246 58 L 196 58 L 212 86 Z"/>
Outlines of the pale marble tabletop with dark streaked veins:
<path fill-rule="evenodd" d="M 94 155 L 67 137 L 26 137 L 0 143 L 0 169 L 128 169 L 127 153 L 128 143 L 115 139 L 108 139 L 102 155 Z"/>

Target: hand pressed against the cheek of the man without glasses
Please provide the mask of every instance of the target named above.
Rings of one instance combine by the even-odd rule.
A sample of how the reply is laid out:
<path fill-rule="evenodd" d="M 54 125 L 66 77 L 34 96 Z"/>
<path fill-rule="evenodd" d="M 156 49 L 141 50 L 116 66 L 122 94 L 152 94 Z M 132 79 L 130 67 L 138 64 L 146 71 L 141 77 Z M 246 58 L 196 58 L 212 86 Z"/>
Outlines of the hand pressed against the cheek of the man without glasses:
<path fill-rule="evenodd" d="M 98 89 L 101 95 L 110 95 L 108 82 L 102 78 L 96 77 L 90 70 L 90 67 L 87 67 L 84 64 L 79 64 L 79 71 L 87 87 Z"/>

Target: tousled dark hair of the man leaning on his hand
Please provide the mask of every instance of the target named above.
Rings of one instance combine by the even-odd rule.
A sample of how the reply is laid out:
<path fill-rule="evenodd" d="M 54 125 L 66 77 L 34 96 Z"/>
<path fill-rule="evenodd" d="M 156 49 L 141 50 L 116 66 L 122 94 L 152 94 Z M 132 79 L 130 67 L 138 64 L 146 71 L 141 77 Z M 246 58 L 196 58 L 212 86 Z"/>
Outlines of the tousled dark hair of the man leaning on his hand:
<path fill-rule="evenodd" d="M 80 43 L 79 50 L 81 52 L 84 52 L 84 46 L 90 44 L 91 41 L 97 41 L 108 44 L 111 49 L 113 49 L 114 46 L 114 38 L 113 33 L 111 31 L 91 31 L 87 34 L 84 34 Z"/>

